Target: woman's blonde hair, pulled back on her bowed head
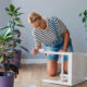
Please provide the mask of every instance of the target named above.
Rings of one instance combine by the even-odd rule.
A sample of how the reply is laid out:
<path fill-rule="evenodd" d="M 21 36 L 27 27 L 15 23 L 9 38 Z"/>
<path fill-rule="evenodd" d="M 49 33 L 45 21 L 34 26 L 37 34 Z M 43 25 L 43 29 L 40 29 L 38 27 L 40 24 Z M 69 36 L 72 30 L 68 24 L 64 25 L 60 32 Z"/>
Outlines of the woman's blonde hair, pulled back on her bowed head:
<path fill-rule="evenodd" d="M 28 15 L 28 22 L 34 23 L 34 22 L 36 22 L 37 20 L 41 20 L 40 14 L 38 14 L 38 13 L 36 13 L 36 12 L 32 12 L 32 13 Z"/>

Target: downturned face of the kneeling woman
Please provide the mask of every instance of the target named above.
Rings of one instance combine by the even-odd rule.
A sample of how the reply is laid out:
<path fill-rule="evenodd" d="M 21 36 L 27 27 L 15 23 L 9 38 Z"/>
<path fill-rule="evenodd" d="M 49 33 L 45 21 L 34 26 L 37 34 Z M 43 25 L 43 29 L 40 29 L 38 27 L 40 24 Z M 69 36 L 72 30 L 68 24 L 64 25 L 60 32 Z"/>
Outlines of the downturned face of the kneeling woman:
<path fill-rule="evenodd" d="M 32 23 L 32 25 L 37 29 L 46 29 L 46 26 L 47 26 L 45 20 L 42 18 L 37 20 L 36 22 Z"/>

